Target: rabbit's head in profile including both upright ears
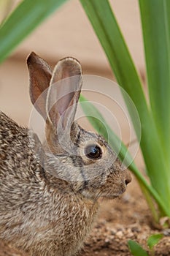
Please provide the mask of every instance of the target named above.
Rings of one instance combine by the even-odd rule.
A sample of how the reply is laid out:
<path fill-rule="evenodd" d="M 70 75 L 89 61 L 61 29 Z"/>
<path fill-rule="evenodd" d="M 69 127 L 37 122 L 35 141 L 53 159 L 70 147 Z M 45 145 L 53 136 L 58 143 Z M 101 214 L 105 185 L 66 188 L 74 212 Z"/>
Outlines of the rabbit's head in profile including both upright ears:
<path fill-rule="evenodd" d="M 131 182 L 128 170 L 100 135 L 82 129 L 74 116 L 82 87 L 82 69 L 73 58 L 54 70 L 35 53 L 28 56 L 30 97 L 45 119 L 46 169 L 88 198 L 114 198 Z"/>

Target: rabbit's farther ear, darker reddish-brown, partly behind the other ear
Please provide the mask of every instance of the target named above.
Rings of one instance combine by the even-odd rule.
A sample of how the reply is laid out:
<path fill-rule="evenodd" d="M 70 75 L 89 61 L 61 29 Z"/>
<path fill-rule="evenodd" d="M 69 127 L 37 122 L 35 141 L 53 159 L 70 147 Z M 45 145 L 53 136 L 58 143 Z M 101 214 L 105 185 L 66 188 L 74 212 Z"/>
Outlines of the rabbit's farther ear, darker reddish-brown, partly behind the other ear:
<path fill-rule="evenodd" d="M 47 88 L 50 86 L 52 69 L 46 61 L 41 59 L 36 53 L 31 53 L 27 59 L 31 102 L 39 113 L 46 118 Z M 44 92 L 43 92 L 44 91 Z"/>

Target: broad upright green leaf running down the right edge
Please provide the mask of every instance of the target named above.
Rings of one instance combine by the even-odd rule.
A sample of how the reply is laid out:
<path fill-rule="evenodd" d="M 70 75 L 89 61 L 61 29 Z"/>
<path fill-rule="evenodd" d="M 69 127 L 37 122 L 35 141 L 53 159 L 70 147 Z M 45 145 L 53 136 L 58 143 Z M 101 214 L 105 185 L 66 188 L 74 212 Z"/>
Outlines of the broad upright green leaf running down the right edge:
<path fill-rule="evenodd" d="M 139 0 L 150 107 L 170 162 L 170 1 Z"/>

